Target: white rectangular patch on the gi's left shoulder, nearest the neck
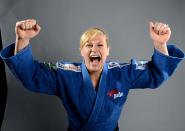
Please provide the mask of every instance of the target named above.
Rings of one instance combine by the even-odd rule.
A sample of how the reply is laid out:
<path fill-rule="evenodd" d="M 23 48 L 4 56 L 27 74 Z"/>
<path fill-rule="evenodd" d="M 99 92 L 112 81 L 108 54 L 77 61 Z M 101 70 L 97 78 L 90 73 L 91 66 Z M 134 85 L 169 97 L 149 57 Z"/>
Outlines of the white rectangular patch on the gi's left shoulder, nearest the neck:
<path fill-rule="evenodd" d="M 63 69 L 63 70 L 70 70 L 70 71 L 75 71 L 75 72 L 81 72 L 80 66 L 76 66 L 74 64 L 63 64 L 57 62 L 57 68 Z"/>

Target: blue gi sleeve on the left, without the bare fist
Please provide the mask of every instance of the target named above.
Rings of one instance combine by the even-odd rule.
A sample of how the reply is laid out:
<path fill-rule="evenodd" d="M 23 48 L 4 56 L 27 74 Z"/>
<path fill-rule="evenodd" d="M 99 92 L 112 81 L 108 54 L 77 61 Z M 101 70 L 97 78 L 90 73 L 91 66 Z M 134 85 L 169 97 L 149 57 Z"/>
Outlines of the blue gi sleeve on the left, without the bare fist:
<path fill-rule="evenodd" d="M 12 73 L 29 90 L 56 95 L 56 70 L 33 59 L 30 45 L 13 55 L 15 44 L 1 51 L 1 57 Z"/>

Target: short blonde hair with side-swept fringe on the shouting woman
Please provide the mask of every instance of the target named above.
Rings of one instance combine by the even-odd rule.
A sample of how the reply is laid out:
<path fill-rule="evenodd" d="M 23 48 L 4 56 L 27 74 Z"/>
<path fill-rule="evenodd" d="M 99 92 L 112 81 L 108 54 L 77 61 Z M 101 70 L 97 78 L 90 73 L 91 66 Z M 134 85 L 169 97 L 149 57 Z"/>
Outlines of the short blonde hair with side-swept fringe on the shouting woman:
<path fill-rule="evenodd" d="M 96 35 L 105 35 L 106 37 L 106 43 L 107 43 L 107 47 L 109 46 L 109 43 L 108 43 L 108 35 L 107 33 L 105 33 L 105 31 L 103 31 L 102 29 L 98 28 L 98 27 L 92 27 L 92 28 L 89 28 L 87 29 L 82 35 L 81 35 L 81 38 L 80 38 L 80 49 L 82 49 L 85 45 L 85 43 L 87 41 L 89 41 L 90 39 L 94 38 Z"/>

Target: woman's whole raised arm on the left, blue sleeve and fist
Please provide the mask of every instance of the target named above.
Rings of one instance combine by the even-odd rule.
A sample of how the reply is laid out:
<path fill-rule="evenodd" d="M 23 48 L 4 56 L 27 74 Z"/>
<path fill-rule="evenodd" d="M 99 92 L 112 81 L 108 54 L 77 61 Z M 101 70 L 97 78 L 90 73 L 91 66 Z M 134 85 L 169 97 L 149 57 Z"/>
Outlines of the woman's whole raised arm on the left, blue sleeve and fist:
<path fill-rule="evenodd" d="M 56 95 L 57 68 L 35 60 L 29 45 L 30 39 L 39 33 L 40 26 L 35 20 L 25 20 L 17 22 L 15 30 L 16 43 L 3 49 L 0 56 L 27 89 Z"/>

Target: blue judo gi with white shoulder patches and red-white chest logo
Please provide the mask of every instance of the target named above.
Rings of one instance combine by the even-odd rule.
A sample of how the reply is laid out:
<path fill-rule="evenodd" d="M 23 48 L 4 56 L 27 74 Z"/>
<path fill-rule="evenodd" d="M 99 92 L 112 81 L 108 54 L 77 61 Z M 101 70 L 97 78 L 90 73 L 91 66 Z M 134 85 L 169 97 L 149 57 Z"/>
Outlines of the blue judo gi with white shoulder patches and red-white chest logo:
<path fill-rule="evenodd" d="M 154 49 L 151 61 L 106 62 L 96 91 L 84 62 L 40 63 L 30 45 L 16 55 L 14 47 L 2 50 L 2 59 L 27 89 L 61 99 L 72 131 L 113 131 L 129 90 L 159 87 L 184 59 L 180 49 L 168 45 L 169 56 Z"/>

